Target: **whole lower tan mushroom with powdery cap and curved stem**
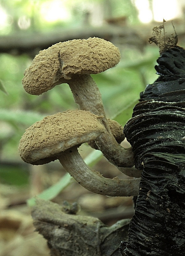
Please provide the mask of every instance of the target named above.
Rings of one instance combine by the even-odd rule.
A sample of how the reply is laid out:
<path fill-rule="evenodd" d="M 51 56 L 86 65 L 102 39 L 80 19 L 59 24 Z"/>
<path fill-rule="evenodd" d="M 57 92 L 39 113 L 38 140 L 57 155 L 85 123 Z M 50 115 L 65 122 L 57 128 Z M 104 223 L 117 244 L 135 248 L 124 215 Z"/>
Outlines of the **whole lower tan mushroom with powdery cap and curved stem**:
<path fill-rule="evenodd" d="M 138 194 L 140 179 L 108 179 L 88 167 L 78 147 L 105 132 L 101 116 L 85 110 L 68 110 L 43 118 L 29 127 L 19 143 L 23 161 L 34 165 L 59 159 L 64 169 L 84 188 L 101 195 Z"/>

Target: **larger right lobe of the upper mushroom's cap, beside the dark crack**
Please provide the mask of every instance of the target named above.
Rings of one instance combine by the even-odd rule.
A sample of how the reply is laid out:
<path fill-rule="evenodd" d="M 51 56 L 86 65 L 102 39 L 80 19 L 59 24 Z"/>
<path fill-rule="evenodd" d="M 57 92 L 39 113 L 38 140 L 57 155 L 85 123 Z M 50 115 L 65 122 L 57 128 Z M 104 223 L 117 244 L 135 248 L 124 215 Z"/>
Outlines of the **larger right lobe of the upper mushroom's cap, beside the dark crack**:
<path fill-rule="evenodd" d="M 62 73 L 66 79 L 70 74 L 98 74 L 114 67 L 120 61 L 119 49 L 101 38 L 74 39 L 64 42 L 60 50 L 63 61 Z"/>

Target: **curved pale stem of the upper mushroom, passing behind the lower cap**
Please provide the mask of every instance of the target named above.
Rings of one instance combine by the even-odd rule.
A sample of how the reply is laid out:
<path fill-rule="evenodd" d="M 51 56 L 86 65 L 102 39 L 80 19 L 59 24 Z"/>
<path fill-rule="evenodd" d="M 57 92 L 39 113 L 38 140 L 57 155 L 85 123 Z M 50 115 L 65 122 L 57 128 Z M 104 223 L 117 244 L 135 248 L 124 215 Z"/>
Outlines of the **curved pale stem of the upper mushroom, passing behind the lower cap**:
<path fill-rule="evenodd" d="M 115 166 L 133 167 L 132 150 L 131 148 L 125 149 L 121 147 L 114 138 L 105 115 L 101 93 L 93 78 L 90 75 L 74 75 L 72 79 L 66 80 L 66 82 L 80 109 L 102 116 L 101 122 L 106 130 L 95 140 L 99 150 Z"/>

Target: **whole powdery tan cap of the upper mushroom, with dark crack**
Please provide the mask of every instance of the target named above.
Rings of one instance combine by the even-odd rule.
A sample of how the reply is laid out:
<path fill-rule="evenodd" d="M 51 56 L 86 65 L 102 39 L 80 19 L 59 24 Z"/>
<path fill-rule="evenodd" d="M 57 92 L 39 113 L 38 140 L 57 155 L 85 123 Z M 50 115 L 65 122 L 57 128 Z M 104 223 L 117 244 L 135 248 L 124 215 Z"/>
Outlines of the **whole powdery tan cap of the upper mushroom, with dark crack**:
<path fill-rule="evenodd" d="M 97 74 L 112 68 L 120 57 L 119 49 L 101 38 L 56 43 L 35 56 L 25 70 L 23 87 L 28 93 L 39 95 L 67 82 L 72 74 Z"/>

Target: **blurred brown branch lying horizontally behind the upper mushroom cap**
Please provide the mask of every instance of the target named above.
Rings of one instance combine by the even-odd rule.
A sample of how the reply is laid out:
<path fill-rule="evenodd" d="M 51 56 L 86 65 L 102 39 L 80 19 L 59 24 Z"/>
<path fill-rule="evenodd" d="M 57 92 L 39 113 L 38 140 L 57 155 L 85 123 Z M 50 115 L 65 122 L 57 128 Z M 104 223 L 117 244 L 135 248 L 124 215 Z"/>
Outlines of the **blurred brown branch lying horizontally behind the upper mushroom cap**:
<path fill-rule="evenodd" d="M 57 28 L 45 33 L 20 31 L 14 35 L 0 36 L 0 52 L 12 55 L 26 53 L 33 58 L 40 50 L 47 49 L 52 44 L 72 39 L 88 39 L 94 36 L 108 40 L 118 47 L 119 45 L 130 45 L 142 51 L 143 47 L 148 43 L 152 27 L 158 25 L 157 22 L 135 26 L 125 25 L 125 23 L 120 24 L 117 20 L 114 20 L 114 22 L 109 20 L 107 22 L 101 27 L 93 27 L 86 24 L 78 28 Z M 180 41 L 185 35 L 184 20 L 175 19 L 173 24 Z M 174 32 L 172 31 L 171 21 L 168 21 L 165 27 L 168 37 Z"/>

